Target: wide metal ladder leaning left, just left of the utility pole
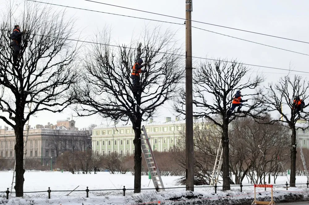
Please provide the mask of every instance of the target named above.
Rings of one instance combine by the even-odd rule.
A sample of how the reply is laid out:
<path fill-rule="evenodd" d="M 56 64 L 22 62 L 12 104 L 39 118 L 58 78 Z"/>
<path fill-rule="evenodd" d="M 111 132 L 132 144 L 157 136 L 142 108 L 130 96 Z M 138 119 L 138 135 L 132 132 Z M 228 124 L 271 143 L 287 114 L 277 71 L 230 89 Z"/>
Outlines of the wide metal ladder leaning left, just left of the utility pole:
<path fill-rule="evenodd" d="M 143 151 L 144 158 L 148 166 L 148 170 L 150 172 L 152 182 L 154 183 L 155 188 L 159 187 L 160 189 L 165 191 L 164 185 L 161 179 L 161 175 L 160 175 L 160 170 L 159 170 L 158 164 L 155 161 L 155 156 L 152 152 L 149 138 L 147 136 L 147 132 L 146 132 L 144 125 L 142 126 L 142 131 L 144 132 L 141 134 L 142 151 Z M 145 139 L 143 136 L 145 136 Z"/>

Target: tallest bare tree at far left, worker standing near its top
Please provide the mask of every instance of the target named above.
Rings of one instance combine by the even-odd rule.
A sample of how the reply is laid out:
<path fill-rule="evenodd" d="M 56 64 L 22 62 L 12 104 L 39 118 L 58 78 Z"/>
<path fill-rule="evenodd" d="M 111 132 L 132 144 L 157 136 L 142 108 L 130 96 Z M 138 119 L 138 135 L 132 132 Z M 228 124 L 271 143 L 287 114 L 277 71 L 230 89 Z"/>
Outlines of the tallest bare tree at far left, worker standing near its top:
<path fill-rule="evenodd" d="M 23 196 L 23 128 L 38 111 L 60 112 L 70 103 L 66 90 L 76 82 L 77 47 L 66 40 L 74 36 L 74 20 L 49 7 L 25 2 L 18 17 L 2 12 L 0 25 L 0 109 L 16 136 L 16 196 Z M 20 44 L 20 58 L 13 66 L 10 35 L 13 22 L 27 32 Z M 32 103 L 32 111 L 27 106 Z"/>

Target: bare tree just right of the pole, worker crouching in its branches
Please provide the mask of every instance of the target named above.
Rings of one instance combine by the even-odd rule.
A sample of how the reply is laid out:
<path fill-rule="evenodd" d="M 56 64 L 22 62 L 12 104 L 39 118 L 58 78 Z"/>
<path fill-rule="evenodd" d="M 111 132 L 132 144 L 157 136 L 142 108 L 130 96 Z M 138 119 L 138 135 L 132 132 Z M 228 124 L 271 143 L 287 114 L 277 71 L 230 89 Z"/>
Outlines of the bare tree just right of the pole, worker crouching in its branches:
<path fill-rule="evenodd" d="M 263 82 L 263 77 L 252 77 L 248 75 L 248 67 L 232 61 L 215 61 L 214 63 L 205 63 L 195 70 L 193 77 L 193 113 L 196 117 L 205 117 L 212 121 L 222 130 L 223 147 L 223 190 L 230 190 L 230 171 L 229 171 L 229 136 L 228 126 L 235 117 L 244 117 L 249 115 L 253 109 L 251 105 L 259 107 L 260 101 L 253 99 L 251 105 L 244 104 L 248 108 L 241 114 L 232 113 L 227 116 L 227 111 L 237 90 L 243 90 L 244 98 L 255 96 L 257 91 L 253 89 Z M 246 92 L 246 93 L 244 93 Z M 253 92 L 250 94 L 250 92 Z M 178 113 L 185 114 L 184 110 L 184 92 L 175 104 L 175 110 Z M 218 118 L 218 115 L 220 116 Z M 252 113 L 250 115 L 258 115 Z"/>

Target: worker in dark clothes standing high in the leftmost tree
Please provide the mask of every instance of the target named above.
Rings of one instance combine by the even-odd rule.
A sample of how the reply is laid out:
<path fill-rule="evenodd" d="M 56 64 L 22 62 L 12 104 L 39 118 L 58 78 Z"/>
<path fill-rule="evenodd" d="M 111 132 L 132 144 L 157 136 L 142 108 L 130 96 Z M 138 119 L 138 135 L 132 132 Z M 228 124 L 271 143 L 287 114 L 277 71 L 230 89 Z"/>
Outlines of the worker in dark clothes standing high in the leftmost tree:
<path fill-rule="evenodd" d="M 23 32 L 20 31 L 19 25 L 15 25 L 13 28 L 13 32 L 11 33 L 11 48 L 13 51 L 13 63 L 14 65 L 17 64 L 17 61 L 20 57 L 20 44 L 23 40 L 22 36 L 23 34 L 26 33 L 26 30 L 23 30 Z"/>

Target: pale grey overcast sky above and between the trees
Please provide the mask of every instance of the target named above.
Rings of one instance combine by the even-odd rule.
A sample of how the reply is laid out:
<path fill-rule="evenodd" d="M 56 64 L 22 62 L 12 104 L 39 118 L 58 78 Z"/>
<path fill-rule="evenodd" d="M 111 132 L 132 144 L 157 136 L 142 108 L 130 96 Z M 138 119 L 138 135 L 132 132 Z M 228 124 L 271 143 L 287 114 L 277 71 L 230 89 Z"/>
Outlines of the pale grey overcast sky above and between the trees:
<path fill-rule="evenodd" d="M 103 12 L 110 12 L 122 15 L 130 15 L 148 19 L 157 19 L 175 23 L 184 23 L 184 20 L 164 17 L 160 15 L 153 15 L 139 11 L 133 11 L 114 6 L 107 6 L 103 4 L 88 2 L 85 0 L 38 0 L 40 2 L 49 2 L 54 4 L 60 4 L 64 6 L 74 6 L 78 8 L 85 8 Z M 98 2 L 104 2 L 119 6 L 130 7 L 138 10 L 145 10 L 150 12 L 156 12 L 165 15 L 176 16 L 185 18 L 185 0 L 95 0 Z M 0 0 L 0 7 L 4 7 L 6 0 Z M 17 9 L 23 9 L 24 0 L 17 0 L 16 4 L 19 4 Z M 42 6 L 44 6 L 42 4 Z M 64 7 L 52 6 L 55 10 L 63 10 Z M 193 0 L 193 12 L 192 20 L 218 24 L 226 27 L 234 27 L 248 31 L 254 31 L 259 33 L 265 33 L 273 36 L 281 36 L 285 38 L 309 41 L 308 36 L 308 19 L 309 19 L 309 1 L 299 0 L 295 1 L 248 1 L 248 0 L 217 0 L 217 1 L 205 1 L 205 0 Z M 148 25 L 153 27 L 155 25 L 161 25 L 163 30 L 167 27 L 178 30 L 177 38 L 180 44 L 185 45 L 185 26 L 170 24 L 170 23 L 158 23 L 155 21 L 133 19 L 129 17 L 115 16 L 110 14 L 97 13 L 86 10 L 78 10 L 73 8 L 66 9 L 66 15 L 68 17 L 74 16 L 77 18 L 76 27 L 83 30 L 84 39 L 91 39 L 91 36 L 100 32 L 105 25 L 112 28 L 113 40 L 122 43 L 128 43 L 133 36 L 138 36 L 140 29 Z M 222 27 L 211 26 L 202 23 L 192 23 L 192 26 L 200 27 L 206 30 L 219 32 L 229 36 L 235 36 L 246 40 L 255 41 L 262 44 L 268 44 L 271 46 L 284 48 L 296 52 L 302 52 L 309 54 L 309 44 L 283 40 L 273 38 L 269 36 L 261 36 L 243 31 L 236 31 Z M 289 69 L 291 67 L 294 70 L 309 72 L 307 69 L 307 60 L 309 56 L 292 53 L 288 51 L 279 50 L 276 48 L 269 48 L 263 45 L 253 44 L 243 40 L 233 39 L 231 37 L 222 36 L 207 31 L 202 31 L 193 28 L 192 30 L 192 49 L 193 56 L 208 57 L 208 58 L 237 58 L 243 63 L 262 65 L 269 67 L 276 67 L 282 69 Z M 198 61 L 193 59 L 193 61 Z M 287 71 L 266 69 L 261 67 L 251 67 L 252 71 L 268 72 L 265 73 L 267 77 L 266 82 L 277 82 L 279 77 L 284 76 Z M 296 73 L 296 72 L 292 72 Z M 254 73 L 253 73 L 254 74 Z M 309 73 L 297 73 L 307 77 Z M 168 107 L 168 105 L 165 105 Z M 164 108 L 163 108 L 164 109 Z M 174 118 L 172 113 L 161 109 L 158 113 L 158 119 L 164 117 Z M 165 110 L 165 109 L 164 109 Z M 57 119 L 65 119 L 71 117 L 71 111 L 67 110 L 62 114 L 53 114 L 41 112 L 30 119 L 32 126 L 36 124 L 56 123 Z M 79 128 L 88 127 L 89 124 L 95 123 L 97 125 L 106 123 L 99 116 L 92 116 L 87 118 L 75 118 L 76 126 Z M 0 121 L 0 125 L 4 125 Z"/>

